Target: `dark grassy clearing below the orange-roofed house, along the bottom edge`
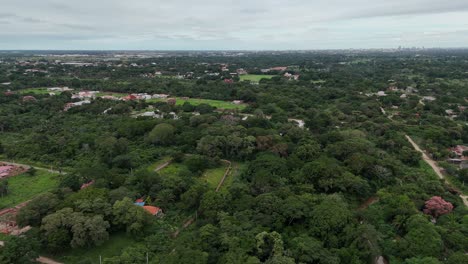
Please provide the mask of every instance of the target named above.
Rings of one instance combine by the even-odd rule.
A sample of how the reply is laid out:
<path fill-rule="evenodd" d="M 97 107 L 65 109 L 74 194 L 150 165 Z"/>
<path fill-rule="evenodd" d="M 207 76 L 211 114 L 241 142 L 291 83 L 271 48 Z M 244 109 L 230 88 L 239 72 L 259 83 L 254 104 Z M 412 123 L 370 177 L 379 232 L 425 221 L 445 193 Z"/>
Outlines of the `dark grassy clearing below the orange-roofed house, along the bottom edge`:
<path fill-rule="evenodd" d="M 137 242 L 126 233 L 116 233 L 111 235 L 109 240 L 100 246 L 70 249 L 58 256 L 52 256 L 52 258 L 64 263 L 78 263 L 83 260 L 89 260 L 90 263 L 99 263 L 99 256 L 103 260 L 104 258 L 119 256 L 126 247 L 134 246 L 135 244 Z"/>

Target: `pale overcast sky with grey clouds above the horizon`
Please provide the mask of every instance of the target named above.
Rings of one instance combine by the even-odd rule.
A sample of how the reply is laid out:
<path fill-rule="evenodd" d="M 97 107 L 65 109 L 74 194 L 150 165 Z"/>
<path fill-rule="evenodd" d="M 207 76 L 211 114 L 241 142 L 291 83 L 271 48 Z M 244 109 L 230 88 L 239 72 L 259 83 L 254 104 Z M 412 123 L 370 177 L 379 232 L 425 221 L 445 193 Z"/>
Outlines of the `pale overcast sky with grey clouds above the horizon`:
<path fill-rule="evenodd" d="M 467 47 L 468 0 L 0 0 L 0 49 Z"/>

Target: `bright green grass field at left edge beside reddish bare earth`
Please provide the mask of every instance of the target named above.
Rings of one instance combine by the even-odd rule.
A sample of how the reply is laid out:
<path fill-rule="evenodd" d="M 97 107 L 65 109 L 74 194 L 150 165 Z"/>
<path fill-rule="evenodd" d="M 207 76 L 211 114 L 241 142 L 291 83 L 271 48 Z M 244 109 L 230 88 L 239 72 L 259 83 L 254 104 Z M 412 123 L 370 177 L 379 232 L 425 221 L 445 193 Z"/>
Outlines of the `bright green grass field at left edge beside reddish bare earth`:
<path fill-rule="evenodd" d="M 23 173 L 4 180 L 8 181 L 9 192 L 0 197 L 0 209 L 31 200 L 38 194 L 52 191 L 59 184 L 58 174 L 44 170 L 37 170 L 34 176 Z"/>

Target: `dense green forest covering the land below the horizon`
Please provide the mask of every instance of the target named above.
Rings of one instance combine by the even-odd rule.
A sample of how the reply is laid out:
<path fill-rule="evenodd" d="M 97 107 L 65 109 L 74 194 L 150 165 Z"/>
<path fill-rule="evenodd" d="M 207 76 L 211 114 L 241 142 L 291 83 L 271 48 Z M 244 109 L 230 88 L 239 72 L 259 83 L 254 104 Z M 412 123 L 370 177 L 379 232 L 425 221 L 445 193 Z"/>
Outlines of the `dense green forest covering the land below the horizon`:
<path fill-rule="evenodd" d="M 468 51 L 59 55 L 0 54 L 0 161 L 37 166 L 1 180 L 0 209 L 16 177 L 55 173 L 33 197 L 17 187 L 32 228 L 0 236 L 0 263 L 468 263 L 468 169 L 449 162 L 468 145 Z M 85 90 L 247 106 L 65 111 Z"/>

